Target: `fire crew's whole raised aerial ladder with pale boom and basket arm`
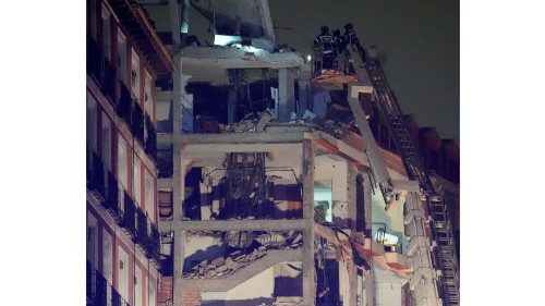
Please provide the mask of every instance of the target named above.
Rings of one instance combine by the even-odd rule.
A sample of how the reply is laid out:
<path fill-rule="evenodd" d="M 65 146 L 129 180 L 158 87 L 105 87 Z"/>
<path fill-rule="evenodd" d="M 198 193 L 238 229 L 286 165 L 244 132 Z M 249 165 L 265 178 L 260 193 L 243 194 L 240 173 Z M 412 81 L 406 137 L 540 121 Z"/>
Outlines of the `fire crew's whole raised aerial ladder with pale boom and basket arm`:
<path fill-rule="evenodd" d="M 458 257 L 445 197 L 435 191 L 429 180 L 376 54 L 366 54 L 359 44 L 353 44 L 347 46 L 342 56 L 344 64 L 349 65 L 344 66 L 344 72 L 355 73 L 355 77 L 351 78 L 350 73 L 334 76 L 317 74 L 313 81 L 317 84 L 349 84 L 348 101 L 364 138 L 363 150 L 370 158 L 374 180 L 380 186 L 387 205 L 395 184 L 379 157 L 359 101 L 360 93 L 373 91 L 365 84 L 373 85 L 376 108 L 387 123 L 409 179 L 420 185 L 420 193 L 410 193 L 405 203 L 405 233 L 410 240 L 408 255 L 414 269 L 410 281 L 413 298 L 416 305 L 459 305 Z M 427 223 L 429 227 L 426 227 Z"/>

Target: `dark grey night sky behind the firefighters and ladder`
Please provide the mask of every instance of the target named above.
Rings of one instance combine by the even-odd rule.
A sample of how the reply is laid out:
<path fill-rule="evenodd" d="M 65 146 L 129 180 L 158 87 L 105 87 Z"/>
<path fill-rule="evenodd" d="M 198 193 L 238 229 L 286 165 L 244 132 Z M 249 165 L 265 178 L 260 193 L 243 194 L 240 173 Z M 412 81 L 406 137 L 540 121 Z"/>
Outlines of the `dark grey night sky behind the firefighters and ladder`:
<path fill-rule="evenodd" d="M 312 54 L 322 25 L 354 25 L 360 41 L 376 45 L 403 113 L 441 138 L 460 135 L 459 1 L 269 0 L 278 44 Z"/>

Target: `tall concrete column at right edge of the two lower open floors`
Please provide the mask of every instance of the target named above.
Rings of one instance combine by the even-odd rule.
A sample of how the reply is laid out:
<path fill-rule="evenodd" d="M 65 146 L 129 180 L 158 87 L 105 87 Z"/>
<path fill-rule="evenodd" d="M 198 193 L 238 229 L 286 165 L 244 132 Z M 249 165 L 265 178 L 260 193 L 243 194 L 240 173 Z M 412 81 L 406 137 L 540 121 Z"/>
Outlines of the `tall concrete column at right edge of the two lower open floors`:
<path fill-rule="evenodd" d="M 303 143 L 303 305 L 316 303 L 316 270 L 314 267 L 314 147 L 311 140 Z"/>

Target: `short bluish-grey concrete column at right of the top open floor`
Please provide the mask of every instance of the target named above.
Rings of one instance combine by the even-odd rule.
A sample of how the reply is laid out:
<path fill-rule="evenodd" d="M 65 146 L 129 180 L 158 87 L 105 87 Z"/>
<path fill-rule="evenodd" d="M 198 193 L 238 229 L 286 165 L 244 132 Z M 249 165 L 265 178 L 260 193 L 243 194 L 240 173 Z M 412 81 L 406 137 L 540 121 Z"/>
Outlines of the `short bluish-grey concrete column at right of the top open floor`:
<path fill-rule="evenodd" d="M 282 68 L 278 71 L 278 120 L 286 122 L 295 109 L 295 74 Z"/>

